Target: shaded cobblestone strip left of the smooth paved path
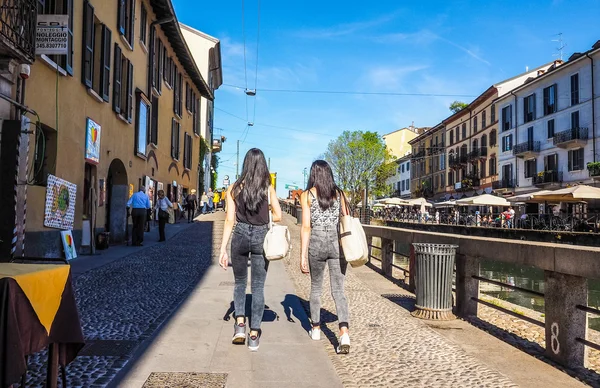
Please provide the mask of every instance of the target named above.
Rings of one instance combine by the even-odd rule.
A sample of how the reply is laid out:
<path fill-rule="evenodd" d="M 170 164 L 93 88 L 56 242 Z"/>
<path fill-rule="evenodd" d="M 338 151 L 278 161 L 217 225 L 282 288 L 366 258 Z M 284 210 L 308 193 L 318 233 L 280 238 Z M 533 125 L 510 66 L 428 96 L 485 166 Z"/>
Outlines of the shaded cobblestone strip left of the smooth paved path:
<path fill-rule="evenodd" d="M 205 275 L 212 234 L 212 223 L 197 223 L 75 278 L 87 346 L 67 368 L 69 387 L 104 387 L 117 375 Z M 45 353 L 29 359 L 28 387 L 43 386 L 45 362 Z"/>

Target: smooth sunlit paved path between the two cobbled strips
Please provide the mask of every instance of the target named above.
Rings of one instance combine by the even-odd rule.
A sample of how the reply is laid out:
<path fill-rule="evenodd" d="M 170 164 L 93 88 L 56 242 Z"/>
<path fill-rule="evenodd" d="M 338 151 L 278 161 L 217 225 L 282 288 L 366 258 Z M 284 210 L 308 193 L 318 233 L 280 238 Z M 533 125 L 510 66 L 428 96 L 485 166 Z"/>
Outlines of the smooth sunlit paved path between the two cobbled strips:
<path fill-rule="evenodd" d="M 224 213 L 197 220 L 214 223 L 213 264 L 116 385 L 142 387 L 151 373 L 170 372 L 153 375 L 146 387 L 222 387 L 225 379 L 227 387 L 341 387 L 327 352 L 307 335 L 308 317 L 281 261 L 269 266 L 260 349 L 231 344 L 233 318 L 224 316 L 232 310 L 233 272 L 216 259 Z"/>

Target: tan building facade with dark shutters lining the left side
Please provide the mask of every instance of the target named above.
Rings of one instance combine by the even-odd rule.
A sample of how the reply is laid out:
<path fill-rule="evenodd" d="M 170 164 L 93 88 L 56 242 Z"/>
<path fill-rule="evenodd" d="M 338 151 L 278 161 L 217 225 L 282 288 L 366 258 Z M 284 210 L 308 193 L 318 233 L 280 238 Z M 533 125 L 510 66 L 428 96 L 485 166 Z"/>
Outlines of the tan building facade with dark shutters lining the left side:
<path fill-rule="evenodd" d="M 212 101 L 214 87 L 170 0 L 36 3 L 38 14 L 68 15 L 68 51 L 37 56 L 26 84 L 11 90 L 37 113 L 27 139 L 27 219 L 16 228 L 26 256 L 61 257 L 59 229 L 47 222 L 56 210 L 49 192 L 57 189 L 49 177 L 76 185 L 57 203 L 69 205 L 62 216 L 71 218 L 78 249 L 102 231 L 123 241 L 132 192 L 145 186 L 154 200 L 162 189 L 179 202 L 199 188 L 201 150 L 211 147 L 208 130 L 201 132 L 201 98 Z"/>

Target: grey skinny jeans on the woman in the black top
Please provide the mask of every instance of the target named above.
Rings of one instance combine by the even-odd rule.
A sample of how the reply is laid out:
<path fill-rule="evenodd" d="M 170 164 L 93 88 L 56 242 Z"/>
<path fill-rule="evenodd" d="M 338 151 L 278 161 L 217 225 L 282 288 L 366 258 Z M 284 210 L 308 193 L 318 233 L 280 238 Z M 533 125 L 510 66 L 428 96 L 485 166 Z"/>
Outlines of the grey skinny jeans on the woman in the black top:
<path fill-rule="evenodd" d="M 265 311 L 265 280 L 269 261 L 264 256 L 263 243 L 268 230 L 268 225 L 256 226 L 238 222 L 231 238 L 231 264 L 235 278 L 233 305 L 236 318 L 246 316 L 246 285 L 248 284 L 248 257 L 250 257 L 252 271 L 250 330 L 260 330 Z"/>

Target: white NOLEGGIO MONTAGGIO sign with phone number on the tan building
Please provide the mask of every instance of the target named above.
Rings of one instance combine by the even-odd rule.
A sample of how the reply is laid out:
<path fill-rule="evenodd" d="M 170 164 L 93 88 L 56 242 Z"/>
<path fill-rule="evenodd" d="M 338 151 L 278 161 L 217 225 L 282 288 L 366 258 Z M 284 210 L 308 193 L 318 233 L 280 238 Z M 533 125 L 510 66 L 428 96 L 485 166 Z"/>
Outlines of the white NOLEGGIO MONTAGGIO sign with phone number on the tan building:
<path fill-rule="evenodd" d="M 36 55 L 67 55 L 69 49 L 68 15 L 38 15 Z"/>

